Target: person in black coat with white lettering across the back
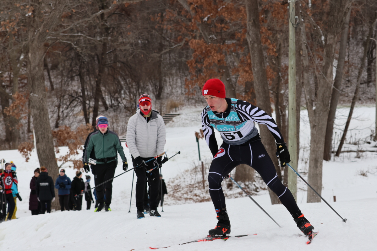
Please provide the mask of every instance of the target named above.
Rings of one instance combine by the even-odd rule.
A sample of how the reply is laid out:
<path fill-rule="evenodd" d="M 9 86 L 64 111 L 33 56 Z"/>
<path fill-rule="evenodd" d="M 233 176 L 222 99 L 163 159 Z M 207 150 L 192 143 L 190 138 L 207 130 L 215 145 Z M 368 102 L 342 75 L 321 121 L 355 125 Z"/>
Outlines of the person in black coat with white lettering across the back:
<path fill-rule="evenodd" d="M 37 179 L 37 197 L 41 202 L 41 213 L 44 214 L 47 207 L 47 212 L 51 213 L 51 202 L 55 201 L 54 181 L 48 176 L 47 168 L 42 166 L 41 173 Z"/>

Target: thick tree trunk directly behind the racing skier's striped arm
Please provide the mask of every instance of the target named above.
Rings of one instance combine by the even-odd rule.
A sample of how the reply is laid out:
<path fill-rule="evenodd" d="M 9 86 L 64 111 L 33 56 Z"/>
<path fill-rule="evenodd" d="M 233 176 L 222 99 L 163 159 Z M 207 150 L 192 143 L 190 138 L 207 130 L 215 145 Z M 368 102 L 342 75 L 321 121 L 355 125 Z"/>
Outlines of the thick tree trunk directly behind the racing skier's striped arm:
<path fill-rule="evenodd" d="M 257 105 L 271 116 L 270 94 L 268 91 L 268 82 L 266 68 L 263 56 L 263 48 L 261 42 L 261 28 L 259 24 L 258 1 L 245 0 L 247 13 L 247 42 L 250 50 L 251 66 L 254 76 L 254 88 L 257 97 Z M 265 146 L 268 155 L 274 163 L 277 175 L 281 180 L 281 172 L 277 158 L 275 157 L 276 145 L 274 137 L 267 126 L 259 125 L 262 143 Z M 280 204 L 277 195 L 268 189 L 272 204 Z"/>

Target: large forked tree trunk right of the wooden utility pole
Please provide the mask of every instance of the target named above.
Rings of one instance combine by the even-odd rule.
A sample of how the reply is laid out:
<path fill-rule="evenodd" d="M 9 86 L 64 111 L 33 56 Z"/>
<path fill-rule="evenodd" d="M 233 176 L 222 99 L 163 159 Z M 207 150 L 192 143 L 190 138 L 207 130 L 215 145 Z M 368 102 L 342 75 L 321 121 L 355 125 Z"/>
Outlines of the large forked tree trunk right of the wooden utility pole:
<path fill-rule="evenodd" d="M 322 160 L 325 146 L 327 121 L 323 117 L 328 117 L 329 102 L 332 88 L 332 68 L 337 43 L 337 34 L 343 26 L 345 16 L 348 13 L 351 3 L 348 0 L 334 0 L 330 2 L 329 22 L 326 30 L 326 38 L 323 48 L 323 62 L 316 75 L 316 84 L 310 84 L 310 79 L 305 71 L 308 71 L 307 46 L 305 34 L 305 20 L 302 18 L 302 50 L 304 69 L 305 99 L 308 108 L 310 121 L 310 158 L 308 183 L 319 193 L 322 193 Z M 304 48 L 305 47 L 305 48 Z M 306 53 L 306 54 L 305 54 Z M 306 81 L 307 80 L 307 81 Z M 307 202 L 320 202 L 321 199 L 311 189 L 308 189 Z"/>

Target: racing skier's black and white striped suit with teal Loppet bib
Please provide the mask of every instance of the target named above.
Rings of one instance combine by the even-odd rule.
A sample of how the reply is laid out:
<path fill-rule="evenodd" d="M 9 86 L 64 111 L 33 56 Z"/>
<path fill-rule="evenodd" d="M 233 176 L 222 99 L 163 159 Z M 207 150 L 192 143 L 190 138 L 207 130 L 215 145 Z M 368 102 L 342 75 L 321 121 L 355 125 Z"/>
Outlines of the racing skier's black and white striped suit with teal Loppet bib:
<path fill-rule="evenodd" d="M 299 208 L 290 190 L 279 178 L 274 164 L 264 148 L 253 122 L 266 125 L 277 143 L 284 143 L 274 119 L 260 108 L 239 99 L 225 98 L 228 108 L 224 113 L 211 111 L 209 106 L 201 114 L 205 140 L 213 155 L 208 173 L 209 192 L 215 209 L 225 208 L 221 183 L 234 167 L 247 164 L 261 175 L 267 186 L 279 197 L 290 213 Z M 223 143 L 218 149 L 215 131 Z"/>

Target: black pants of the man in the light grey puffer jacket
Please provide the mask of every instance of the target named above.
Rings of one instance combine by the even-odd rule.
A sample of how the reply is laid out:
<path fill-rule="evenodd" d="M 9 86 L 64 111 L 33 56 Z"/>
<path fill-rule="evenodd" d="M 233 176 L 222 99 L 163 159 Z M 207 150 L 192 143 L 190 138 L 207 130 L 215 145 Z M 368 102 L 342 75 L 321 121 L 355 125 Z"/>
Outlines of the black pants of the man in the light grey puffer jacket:
<path fill-rule="evenodd" d="M 142 158 L 143 160 L 147 161 L 150 160 L 153 157 L 150 158 Z M 137 166 L 135 159 L 132 157 L 132 164 L 133 166 Z M 152 172 L 147 173 L 147 170 L 152 169 L 156 166 L 155 161 L 149 161 L 147 163 L 148 167 L 145 168 L 139 168 L 136 167 L 135 173 L 136 173 L 136 208 L 138 211 L 144 210 L 144 199 L 145 199 L 145 190 L 146 190 L 146 181 L 148 181 L 149 185 L 149 198 L 150 198 L 150 209 L 151 210 L 157 210 L 157 197 L 160 192 L 160 179 L 159 179 L 159 170 L 154 169 Z M 147 179 L 146 179 L 147 178 Z"/>

